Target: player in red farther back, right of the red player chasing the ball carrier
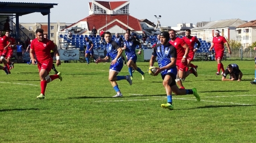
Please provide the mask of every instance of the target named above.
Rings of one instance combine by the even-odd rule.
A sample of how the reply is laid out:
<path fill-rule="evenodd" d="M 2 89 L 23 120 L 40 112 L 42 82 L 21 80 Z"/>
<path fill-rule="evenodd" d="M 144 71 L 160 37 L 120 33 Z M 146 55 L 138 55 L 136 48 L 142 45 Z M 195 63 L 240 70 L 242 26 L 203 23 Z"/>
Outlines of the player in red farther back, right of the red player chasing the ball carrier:
<path fill-rule="evenodd" d="M 197 70 L 197 66 L 191 63 L 191 61 L 194 59 L 195 52 L 200 47 L 201 43 L 197 40 L 196 37 L 191 36 L 191 30 L 187 29 L 185 32 L 186 36 L 182 37 L 183 40 L 186 42 L 186 44 L 189 47 L 189 53 L 188 53 L 188 66 L 186 68 L 186 71 L 188 71 L 188 67 L 193 67 Z M 196 49 L 194 49 L 194 45 L 197 43 Z"/>

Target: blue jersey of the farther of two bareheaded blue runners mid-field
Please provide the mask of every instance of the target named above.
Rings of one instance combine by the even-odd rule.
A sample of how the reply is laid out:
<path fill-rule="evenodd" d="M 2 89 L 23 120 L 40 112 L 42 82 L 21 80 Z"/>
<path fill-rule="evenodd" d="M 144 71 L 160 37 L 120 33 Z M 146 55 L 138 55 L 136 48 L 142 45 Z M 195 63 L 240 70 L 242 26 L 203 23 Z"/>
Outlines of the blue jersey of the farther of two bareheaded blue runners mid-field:
<path fill-rule="evenodd" d="M 125 49 L 125 55 L 129 58 L 129 57 L 133 57 L 134 55 L 136 55 L 136 46 L 141 44 L 139 41 L 136 40 L 125 40 L 123 41 L 123 46 L 126 46 Z"/>

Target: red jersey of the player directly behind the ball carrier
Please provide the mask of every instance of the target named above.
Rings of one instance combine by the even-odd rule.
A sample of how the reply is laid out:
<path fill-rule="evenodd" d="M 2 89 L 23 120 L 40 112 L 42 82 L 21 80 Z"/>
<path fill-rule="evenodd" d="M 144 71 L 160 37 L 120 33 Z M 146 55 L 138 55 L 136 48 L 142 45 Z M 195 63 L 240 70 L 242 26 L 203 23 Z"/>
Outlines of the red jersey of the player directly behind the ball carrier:
<path fill-rule="evenodd" d="M 182 59 L 185 54 L 184 46 L 186 43 L 181 38 L 176 38 L 174 41 L 169 41 L 172 46 L 174 46 L 177 50 L 177 59 Z"/>

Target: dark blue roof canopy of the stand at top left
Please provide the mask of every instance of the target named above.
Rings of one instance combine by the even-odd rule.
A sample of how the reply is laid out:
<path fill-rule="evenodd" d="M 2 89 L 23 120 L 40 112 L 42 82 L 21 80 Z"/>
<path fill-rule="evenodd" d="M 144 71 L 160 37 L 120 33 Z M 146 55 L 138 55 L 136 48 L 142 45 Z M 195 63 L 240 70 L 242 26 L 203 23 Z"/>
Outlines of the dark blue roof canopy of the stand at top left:
<path fill-rule="evenodd" d="M 0 2 L 0 13 L 21 16 L 41 12 L 42 15 L 47 15 L 54 5 L 57 3 Z"/>

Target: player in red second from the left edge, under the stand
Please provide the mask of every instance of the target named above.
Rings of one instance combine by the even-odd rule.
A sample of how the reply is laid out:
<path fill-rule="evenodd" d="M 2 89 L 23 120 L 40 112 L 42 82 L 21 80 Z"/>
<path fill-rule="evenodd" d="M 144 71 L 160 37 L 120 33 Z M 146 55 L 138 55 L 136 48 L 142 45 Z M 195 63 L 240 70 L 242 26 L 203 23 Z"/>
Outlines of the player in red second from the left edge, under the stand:
<path fill-rule="evenodd" d="M 10 37 L 9 31 L 5 32 L 5 36 L 9 37 L 11 40 L 10 46 L 7 47 L 7 49 L 6 49 L 7 52 L 6 52 L 6 57 L 5 57 L 5 58 L 7 58 L 8 65 L 10 66 L 10 70 L 11 70 L 12 68 L 14 68 L 14 63 L 11 62 L 11 58 L 13 57 L 13 48 L 17 45 L 17 43 L 13 37 Z M 9 44 L 9 41 L 7 41 L 7 44 Z"/>

